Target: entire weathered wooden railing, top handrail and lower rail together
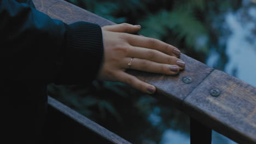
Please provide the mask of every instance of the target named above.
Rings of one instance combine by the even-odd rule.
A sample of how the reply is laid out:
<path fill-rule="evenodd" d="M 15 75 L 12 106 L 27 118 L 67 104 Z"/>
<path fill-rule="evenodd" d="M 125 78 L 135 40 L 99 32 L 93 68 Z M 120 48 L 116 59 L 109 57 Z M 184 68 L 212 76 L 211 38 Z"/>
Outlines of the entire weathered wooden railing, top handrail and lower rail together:
<path fill-rule="evenodd" d="M 38 10 L 65 23 L 88 21 L 100 26 L 115 24 L 63 0 L 33 0 L 33 2 Z M 255 144 L 256 88 L 189 56 L 182 54 L 181 59 L 186 63 L 186 67 L 176 76 L 135 70 L 130 70 L 128 73 L 156 86 L 157 93 L 153 97 L 190 116 L 191 143 L 211 143 L 213 129 L 238 143 Z M 96 134 L 96 137 L 101 137 L 106 143 L 130 143 L 51 97 L 49 97 L 49 105 L 51 109 L 49 125 L 52 127 L 61 125 L 58 122 L 54 123 L 54 118 L 58 118 L 56 117 L 58 115 L 69 119 L 63 124 L 65 127 L 76 123 L 79 127 L 72 127 L 73 130 L 84 129 L 82 131 L 86 134 L 89 130 L 90 134 Z M 195 129 L 200 131 L 195 132 Z M 69 133 L 69 138 L 71 135 L 78 139 L 74 133 Z"/>

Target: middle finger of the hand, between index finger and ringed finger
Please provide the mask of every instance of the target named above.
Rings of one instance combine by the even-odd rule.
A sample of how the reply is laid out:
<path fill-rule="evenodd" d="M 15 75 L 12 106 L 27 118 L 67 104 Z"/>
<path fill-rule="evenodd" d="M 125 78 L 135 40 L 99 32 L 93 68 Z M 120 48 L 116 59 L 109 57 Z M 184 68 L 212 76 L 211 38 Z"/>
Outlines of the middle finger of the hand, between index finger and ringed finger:
<path fill-rule="evenodd" d="M 164 63 L 164 64 L 172 64 L 178 65 L 181 69 L 184 69 L 185 63 L 174 56 L 167 55 L 163 52 L 146 49 L 143 47 L 132 46 L 129 52 L 127 53 L 127 57 L 136 57 L 141 59 L 148 59 L 149 61 Z"/>

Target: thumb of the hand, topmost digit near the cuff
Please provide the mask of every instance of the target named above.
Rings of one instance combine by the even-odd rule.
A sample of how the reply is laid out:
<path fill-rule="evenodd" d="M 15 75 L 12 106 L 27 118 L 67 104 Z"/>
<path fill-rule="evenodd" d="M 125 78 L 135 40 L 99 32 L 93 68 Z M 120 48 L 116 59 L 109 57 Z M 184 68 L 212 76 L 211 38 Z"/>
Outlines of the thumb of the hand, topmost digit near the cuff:
<path fill-rule="evenodd" d="M 118 32 L 118 33 L 136 33 L 141 30 L 140 25 L 131 25 L 129 23 L 121 23 L 117 25 L 104 26 L 104 31 Z"/>

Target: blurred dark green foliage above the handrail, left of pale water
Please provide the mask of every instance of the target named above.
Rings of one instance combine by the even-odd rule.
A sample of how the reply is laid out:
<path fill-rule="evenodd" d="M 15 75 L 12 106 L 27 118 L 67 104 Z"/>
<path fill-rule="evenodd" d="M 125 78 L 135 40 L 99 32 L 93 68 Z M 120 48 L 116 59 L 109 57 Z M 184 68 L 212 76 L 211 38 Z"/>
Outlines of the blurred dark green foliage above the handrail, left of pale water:
<path fill-rule="evenodd" d="M 205 62 L 210 48 L 225 32 L 221 16 L 241 4 L 241 0 L 67 1 L 115 23 L 139 24 L 139 34 L 172 44 L 201 62 Z"/>

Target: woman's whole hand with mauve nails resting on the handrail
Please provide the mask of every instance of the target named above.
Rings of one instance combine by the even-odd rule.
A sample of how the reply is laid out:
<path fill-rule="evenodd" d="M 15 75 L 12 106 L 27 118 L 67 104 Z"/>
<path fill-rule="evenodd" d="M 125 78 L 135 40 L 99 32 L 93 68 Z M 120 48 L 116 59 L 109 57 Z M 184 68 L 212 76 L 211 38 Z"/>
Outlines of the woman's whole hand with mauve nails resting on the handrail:
<path fill-rule="evenodd" d="M 121 23 L 102 27 L 104 60 L 98 79 L 126 83 L 140 91 L 152 94 L 155 87 L 127 74 L 127 69 L 175 75 L 184 69 L 185 63 L 176 47 L 160 40 L 136 33 L 140 26 Z"/>

